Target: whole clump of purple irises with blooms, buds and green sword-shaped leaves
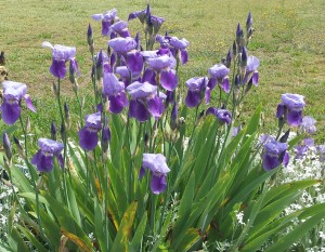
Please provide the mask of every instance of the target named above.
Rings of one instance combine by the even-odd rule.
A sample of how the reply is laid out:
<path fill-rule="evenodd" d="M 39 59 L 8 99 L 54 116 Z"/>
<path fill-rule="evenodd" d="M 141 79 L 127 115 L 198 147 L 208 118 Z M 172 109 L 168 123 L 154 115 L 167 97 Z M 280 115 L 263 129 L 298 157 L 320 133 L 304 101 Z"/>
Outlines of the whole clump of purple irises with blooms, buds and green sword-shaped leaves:
<path fill-rule="evenodd" d="M 8 129 L 1 180 L 11 193 L 1 251 L 321 248 L 324 200 L 292 205 L 323 190 L 323 173 L 285 181 L 283 172 L 292 167 L 294 147 L 298 162 L 313 146 L 315 121 L 302 115 L 304 97 L 282 95 L 275 135 L 259 134 L 261 106 L 245 125 L 236 124 L 259 82 L 259 59 L 247 51 L 251 14 L 245 30 L 238 24 L 225 57 L 188 80 L 178 71 L 191 61 L 190 42 L 159 34 L 165 18 L 150 5 L 128 22 L 115 9 L 92 18 L 102 23 L 107 50 L 98 51 L 89 25 L 91 106 L 78 93 L 76 48 L 42 43 L 52 52 L 52 63 L 44 64 L 51 65 L 61 121 L 38 146 L 27 137 L 32 122 L 25 108 L 37 112 L 27 85 L 2 81 Z M 143 25 L 138 34 L 128 29 L 133 19 Z M 64 78 L 78 111 L 63 101 Z M 15 124 L 23 136 L 15 135 Z M 324 146 L 314 148 L 324 161 Z"/>

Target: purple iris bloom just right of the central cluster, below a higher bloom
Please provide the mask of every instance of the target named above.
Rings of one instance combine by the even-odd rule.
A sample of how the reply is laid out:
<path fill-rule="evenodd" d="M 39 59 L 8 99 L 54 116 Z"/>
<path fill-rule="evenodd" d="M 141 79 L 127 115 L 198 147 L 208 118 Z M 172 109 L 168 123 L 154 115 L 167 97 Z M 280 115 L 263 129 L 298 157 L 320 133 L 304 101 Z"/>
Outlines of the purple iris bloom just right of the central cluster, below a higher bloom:
<path fill-rule="evenodd" d="M 206 91 L 209 89 L 207 87 L 208 81 L 206 77 L 193 77 L 186 81 L 188 88 L 185 97 L 185 105 L 187 107 L 197 107 L 204 97 L 206 96 Z"/>

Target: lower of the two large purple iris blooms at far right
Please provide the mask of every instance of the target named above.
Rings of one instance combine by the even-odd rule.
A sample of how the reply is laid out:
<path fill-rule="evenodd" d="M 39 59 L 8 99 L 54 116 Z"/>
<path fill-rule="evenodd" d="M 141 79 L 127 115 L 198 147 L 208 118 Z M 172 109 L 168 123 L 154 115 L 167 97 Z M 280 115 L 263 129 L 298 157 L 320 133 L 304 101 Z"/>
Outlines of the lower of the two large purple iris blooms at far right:
<path fill-rule="evenodd" d="M 281 163 L 285 167 L 289 163 L 289 154 L 287 151 L 288 144 L 280 143 L 275 140 L 264 145 L 263 168 L 270 171 L 277 168 Z"/>

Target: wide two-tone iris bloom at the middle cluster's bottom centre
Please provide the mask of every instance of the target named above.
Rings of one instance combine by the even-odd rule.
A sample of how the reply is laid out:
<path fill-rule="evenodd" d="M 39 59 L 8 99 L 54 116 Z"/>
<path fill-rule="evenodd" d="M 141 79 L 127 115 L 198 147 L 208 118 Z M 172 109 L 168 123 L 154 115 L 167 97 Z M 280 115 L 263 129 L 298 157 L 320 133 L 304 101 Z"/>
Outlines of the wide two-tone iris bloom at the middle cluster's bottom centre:
<path fill-rule="evenodd" d="M 166 95 L 159 93 L 158 96 L 157 89 L 157 85 L 148 82 L 141 83 L 135 81 L 130 84 L 127 88 L 131 95 L 129 116 L 141 122 L 148 120 L 151 115 L 155 118 L 161 117 L 165 111 L 164 100 L 166 100 Z"/>

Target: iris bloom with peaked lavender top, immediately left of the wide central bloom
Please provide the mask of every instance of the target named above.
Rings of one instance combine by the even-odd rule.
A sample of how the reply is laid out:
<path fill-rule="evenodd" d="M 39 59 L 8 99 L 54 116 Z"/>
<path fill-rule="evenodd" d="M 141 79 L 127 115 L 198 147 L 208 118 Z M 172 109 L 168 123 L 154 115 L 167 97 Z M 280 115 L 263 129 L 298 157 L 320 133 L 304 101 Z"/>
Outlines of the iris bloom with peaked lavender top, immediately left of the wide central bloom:
<path fill-rule="evenodd" d="M 107 95 L 109 101 L 109 111 L 119 114 L 128 105 L 128 97 L 125 92 L 125 83 L 118 81 L 114 74 L 104 74 L 103 95 Z"/>

